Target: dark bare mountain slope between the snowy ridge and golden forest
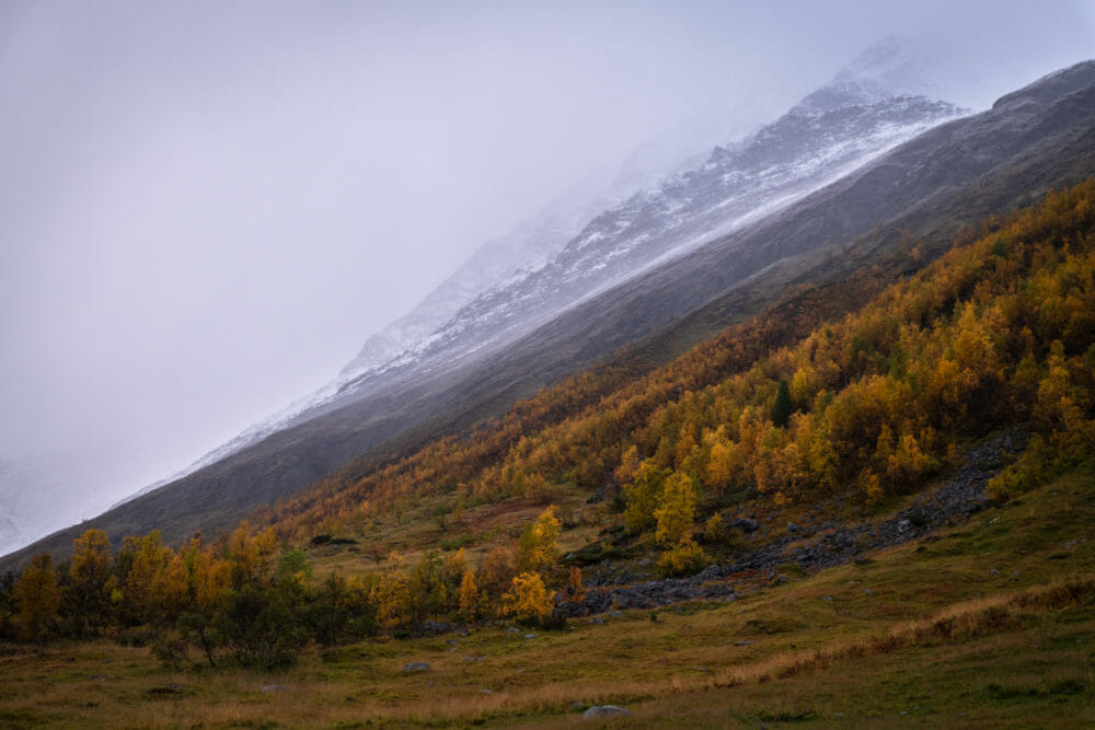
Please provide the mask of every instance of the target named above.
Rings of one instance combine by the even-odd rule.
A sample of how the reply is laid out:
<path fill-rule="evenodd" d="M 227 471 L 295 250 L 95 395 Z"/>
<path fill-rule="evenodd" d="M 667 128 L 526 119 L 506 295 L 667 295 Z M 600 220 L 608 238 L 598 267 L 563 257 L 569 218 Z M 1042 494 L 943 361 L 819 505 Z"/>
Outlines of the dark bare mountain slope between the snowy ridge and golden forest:
<path fill-rule="evenodd" d="M 794 271 L 823 279 L 834 268 L 819 267 L 825 256 L 872 231 L 878 233 L 865 241 L 883 247 L 899 243 L 903 228 L 947 232 L 981 208 L 1005 209 L 1004 204 L 1028 199 L 1046 186 L 1090 174 L 1095 169 L 1093 84 L 1091 62 L 1036 82 L 989 112 L 922 135 L 763 224 L 584 302 L 504 357 L 332 409 L 89 524 L 103 526 L 115 540 L 152 528 L 163 529 L 172 541 L 197 529 L 216 531 L 408 427 L 434 418 L 428 430 L 437 432 L 496 413 L 690 312 L 708 308 L 708 327 L 733 322 L 772 296 L 765 276 Z M 843 253 L 862 260 L 871 252 Z M 768 268 L 773 264 L 780 266 Z M 710 309 L 734 297 L 744 299 Z M 65 553 L 76 532 L 58 533 L 5 563 L 41 549 Z"/>

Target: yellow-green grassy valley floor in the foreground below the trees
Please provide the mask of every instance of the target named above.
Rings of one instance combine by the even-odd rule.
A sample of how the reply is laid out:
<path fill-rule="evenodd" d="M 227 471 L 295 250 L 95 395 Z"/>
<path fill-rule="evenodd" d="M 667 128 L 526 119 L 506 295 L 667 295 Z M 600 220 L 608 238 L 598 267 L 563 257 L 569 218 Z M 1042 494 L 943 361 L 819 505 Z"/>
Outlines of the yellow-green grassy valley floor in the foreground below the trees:
<path fill-rule="evenodd" d="M 270 673 L 164 668 L 107 641 L 0 647 L 0 726 L 552 727 L 613 704 L 652 727 L 1092 727 L 1093 487 L 1073 473 L 734 601 L 563 631 L 315 648 Z"/>

